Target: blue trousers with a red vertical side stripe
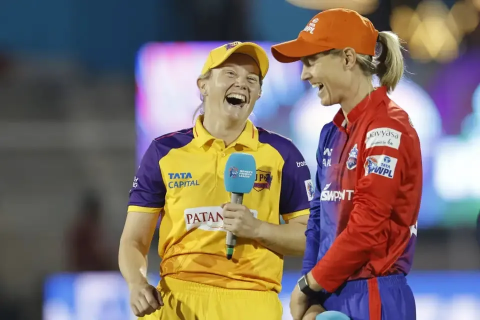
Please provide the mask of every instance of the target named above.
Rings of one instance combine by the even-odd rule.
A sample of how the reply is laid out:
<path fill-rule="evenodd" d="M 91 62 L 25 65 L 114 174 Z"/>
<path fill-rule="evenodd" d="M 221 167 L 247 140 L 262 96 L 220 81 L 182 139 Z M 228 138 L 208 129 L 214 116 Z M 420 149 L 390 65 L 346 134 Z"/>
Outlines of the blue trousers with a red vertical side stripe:
<path fill-rule="evenodd" d="M 416 320 L 415 299 L 403 274 L 348 281 L 334 293 L 321 292 L 315 302 L 352 320 Z"/>

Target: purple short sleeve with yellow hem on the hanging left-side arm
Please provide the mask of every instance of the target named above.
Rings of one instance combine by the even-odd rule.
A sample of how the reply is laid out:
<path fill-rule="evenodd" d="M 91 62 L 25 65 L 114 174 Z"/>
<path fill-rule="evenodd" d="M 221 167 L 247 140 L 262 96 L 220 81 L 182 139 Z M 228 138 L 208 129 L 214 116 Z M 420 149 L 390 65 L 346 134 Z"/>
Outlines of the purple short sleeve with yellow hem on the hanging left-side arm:
<path fill-rule="evenodd" d="M 165 204 L 166 188 L 160 172 L 160 156 L 152 141 L 133 178 L 128 212 L 157 213 Z"/>

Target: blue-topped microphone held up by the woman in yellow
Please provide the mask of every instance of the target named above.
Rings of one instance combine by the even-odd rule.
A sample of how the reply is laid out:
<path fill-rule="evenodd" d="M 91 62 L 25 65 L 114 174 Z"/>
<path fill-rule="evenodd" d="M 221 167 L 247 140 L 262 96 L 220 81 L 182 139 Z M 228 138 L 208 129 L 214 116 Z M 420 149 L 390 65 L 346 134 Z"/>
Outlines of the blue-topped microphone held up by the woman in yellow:
<path fill-rule="evenodd" d="M 256 163 L 251 154 L 235 152 L 226 161 L 223 171 L 225 189 L 231 192 L 230 203 L 241 204 L 243 193 L 249 193 L 255 183 Z M 236 236 L 230 231 L 226 232 L 226 258 L 231 259 L 233 247 L 236 244 Z"/>

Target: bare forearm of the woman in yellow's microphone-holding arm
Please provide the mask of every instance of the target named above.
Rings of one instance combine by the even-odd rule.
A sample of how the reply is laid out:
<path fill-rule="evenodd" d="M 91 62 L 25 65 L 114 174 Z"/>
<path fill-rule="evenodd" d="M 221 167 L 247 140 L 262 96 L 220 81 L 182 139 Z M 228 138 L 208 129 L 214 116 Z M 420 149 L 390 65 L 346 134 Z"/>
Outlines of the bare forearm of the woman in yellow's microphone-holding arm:
<path fill-rule="evenodd" d="M 258 228 L 256 240 L 268 249 L 282 255 L 303 255 L 305 229 L 302 223 L 272 224 L 263 222 Z"/>

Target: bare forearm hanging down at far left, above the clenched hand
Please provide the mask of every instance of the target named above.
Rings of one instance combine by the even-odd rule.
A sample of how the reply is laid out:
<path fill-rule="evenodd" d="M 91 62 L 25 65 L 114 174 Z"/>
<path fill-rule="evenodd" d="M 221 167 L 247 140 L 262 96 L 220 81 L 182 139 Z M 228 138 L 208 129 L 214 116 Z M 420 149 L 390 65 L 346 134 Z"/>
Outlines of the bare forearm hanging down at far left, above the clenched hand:
<path fill-rule="evenodd" d="M 147 282 L 147 256 L 132 241 L 121 241 L 118 250 L 118 266 L 128 286 Z"/>

